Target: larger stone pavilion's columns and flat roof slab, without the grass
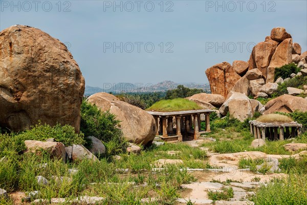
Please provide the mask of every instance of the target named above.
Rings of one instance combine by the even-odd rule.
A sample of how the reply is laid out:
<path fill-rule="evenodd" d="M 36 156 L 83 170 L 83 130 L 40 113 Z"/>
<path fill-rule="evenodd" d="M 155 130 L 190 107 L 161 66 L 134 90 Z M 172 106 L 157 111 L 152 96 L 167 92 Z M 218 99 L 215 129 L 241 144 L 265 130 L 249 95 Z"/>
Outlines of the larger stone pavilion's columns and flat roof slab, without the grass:
<path fill-rule="evenodd" d="M 210 113 L 213 110 L 188 110 L 176 112 L 151 112 L 155 118 L 157 136 L 164 141 L 198 139 L 201 134 L 210 132 Z M 206 128 L 201 130 L 201 114 L 205 115 Z"/>

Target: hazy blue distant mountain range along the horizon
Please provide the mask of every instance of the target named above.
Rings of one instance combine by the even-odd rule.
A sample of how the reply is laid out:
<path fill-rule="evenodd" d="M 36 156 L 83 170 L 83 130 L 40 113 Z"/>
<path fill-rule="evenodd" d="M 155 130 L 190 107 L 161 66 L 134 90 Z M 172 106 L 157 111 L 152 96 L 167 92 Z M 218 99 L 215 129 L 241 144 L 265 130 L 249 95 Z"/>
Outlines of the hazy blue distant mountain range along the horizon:
<path fill-rule="evenodd" d="M 133 83 L 117 83 L 117 84 L 103 84 L 103 88 L 85 86 L 84 95 L 89 96 L 99 92 L 112 92 L 118 93 L 147 93 L 147 92 L 166 92 L 183 85 L 187 88 L 203 89 L 210 91 L 209 84 L 196 84 L 196 83 L 174 83 L 173 81 L 166 80 L 158 84 L 133 84 Z"/>

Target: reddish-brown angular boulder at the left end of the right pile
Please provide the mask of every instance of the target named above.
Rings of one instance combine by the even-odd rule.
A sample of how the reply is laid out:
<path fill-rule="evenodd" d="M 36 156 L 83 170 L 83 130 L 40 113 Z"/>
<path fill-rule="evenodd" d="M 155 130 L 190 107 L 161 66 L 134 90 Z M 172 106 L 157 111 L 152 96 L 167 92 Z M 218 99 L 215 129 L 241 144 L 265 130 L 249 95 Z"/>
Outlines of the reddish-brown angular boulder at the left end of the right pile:
<path fill-rule="evenodd" d="M 227 96 L 236 81 L 241 77 L 227 62 L 216 64 L 208 68 L 206 70 L 206 75 L 210 83 L 211 93 L 220 94 L 224 97 Z"/>

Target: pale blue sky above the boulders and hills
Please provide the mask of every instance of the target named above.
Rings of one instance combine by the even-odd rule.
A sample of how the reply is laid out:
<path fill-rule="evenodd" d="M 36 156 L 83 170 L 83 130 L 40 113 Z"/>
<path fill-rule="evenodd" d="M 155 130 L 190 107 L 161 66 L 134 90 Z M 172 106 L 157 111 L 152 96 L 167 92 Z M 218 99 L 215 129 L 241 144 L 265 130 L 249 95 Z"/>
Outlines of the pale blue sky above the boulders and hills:
<path fill-rule="evenodd" d="M 94 87 L 206 84 L 207 68 L 248 61 L 274 27 L 307 50 L 307 1 L 0 0 L 0 30 L 17 24 L 61 40 Z"/>

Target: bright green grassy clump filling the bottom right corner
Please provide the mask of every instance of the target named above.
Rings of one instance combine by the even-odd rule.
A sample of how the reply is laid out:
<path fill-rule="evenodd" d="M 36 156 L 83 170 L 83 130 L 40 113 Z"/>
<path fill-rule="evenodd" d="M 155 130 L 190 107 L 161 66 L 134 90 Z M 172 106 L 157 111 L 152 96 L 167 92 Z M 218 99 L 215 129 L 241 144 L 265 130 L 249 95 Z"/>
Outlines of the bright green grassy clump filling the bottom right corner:
<path fill-rule="evenodd" d="M 255 205 L 307 204 L 307 176 L 291 173 L 288 177 L 273 179 L 262 185 L 252 197 Z"/>

